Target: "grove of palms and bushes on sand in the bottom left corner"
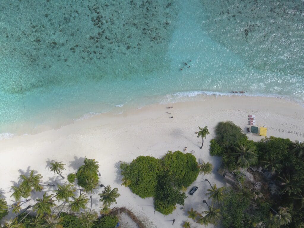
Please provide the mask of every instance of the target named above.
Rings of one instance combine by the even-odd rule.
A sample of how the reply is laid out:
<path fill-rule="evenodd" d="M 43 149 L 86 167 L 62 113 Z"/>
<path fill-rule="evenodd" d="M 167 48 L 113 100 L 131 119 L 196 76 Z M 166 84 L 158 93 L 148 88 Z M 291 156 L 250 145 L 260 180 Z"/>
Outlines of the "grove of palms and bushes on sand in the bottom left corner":
<path fill-rule="evenodd" d="M 51 170 L 54 174 L 60 176 L 61 170 L 64 169 L 64 164 L 61 162 L 50 163 Z M 36 174 L 36 171 L 31 170 L 29 174 L 20 175 L 19 186 L 12 186 L 13 193 L 11 197 L 16 200 L 11 206 L 7 205 L 5 199 L 0 195 L 0 219 L 8 214 L 8 212 L 16 213 L 16 219 L 11 219 L 4 223 L 6 228 L 93 228 L 93 227 L 114 227 L 118 223 L 118 217 L 102 215 L 98 218 L 97 212 L 92 210 L 92 195 L 88 197 L 85 192 L 92 192 L 98 185 L 98 162 L 94 159 L 85 158 L 84 165 L 79 167 L 77 174 L 70 174 L 68 180 L 72 183 L 57 184 L 57 189 L 45 189 L 46 187 L 55 185 L 45 185 L 42 183 L 42 176 Z M 100 174 L 99 174 L 100 175 Z M 83 188 L 76 189 L 74 183 L 75 177 L 78 177 L 78 183 L 84 185 Z M 92 178 L 93 177 L 93 178 Z M 92 181 L 94 179 L 94 181 Z M 93 183 L 93 184 L 92 184 Z M 76 191 L 80 190 L 80 192 Z M 38 199 L 34 199 L 26 208 L 22 205 L 33 199 L 33 191 L 43 191 L 44 194 Z M 53 192 L 53 194 L 50 194 Z M 110 185 L 105 187 L 100 195 L 100 201 L 103 203 L 103 209 L 111 212 L 110 206 L 116 203 L 119 197 L 118 189 L 111 188 Z M 88 202 L 91 206 L 87 208 Z M 58 205 L 57 205 L 58 202 Z M 105 208 L 106 207 L 106 208 Z M 54 213 L 54 209 L 56 213 Z M 62 212 L 63 209 L 70 209 L 75 214 Z M 21 211 L 21 213 L 19 213 Z M 59 212 L 58 212 L 59 211 Z M 31 216 L 30 213 L 36 214 Z M 1 226 L 2 227 L 2 226 Z"/>

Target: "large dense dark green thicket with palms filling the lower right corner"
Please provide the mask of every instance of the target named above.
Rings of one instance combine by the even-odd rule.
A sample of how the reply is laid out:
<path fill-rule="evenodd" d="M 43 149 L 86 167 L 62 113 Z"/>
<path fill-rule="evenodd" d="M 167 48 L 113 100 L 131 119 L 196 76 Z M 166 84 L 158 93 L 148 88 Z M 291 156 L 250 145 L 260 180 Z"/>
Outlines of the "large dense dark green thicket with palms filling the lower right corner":
<path fill-rule="evenodd" d="M 210 154 L 222 156 L 224 167 L 236 179 L 232 188 L 218 189 L 209 183 L 208 199 L 220 209 L 222 225 L 303 228 L 303 146 L 299 141 L 273 136 L 253 142 L 232 122 L 220 122 L 210 142 Z M 257 171 L 260 167 L 269 172 L 267 178 Z M 259 188 L 245 178 L 246 170 L 260 182 Z M 197 219 L 202 224 L 206 220 L 206 216 Z"/>

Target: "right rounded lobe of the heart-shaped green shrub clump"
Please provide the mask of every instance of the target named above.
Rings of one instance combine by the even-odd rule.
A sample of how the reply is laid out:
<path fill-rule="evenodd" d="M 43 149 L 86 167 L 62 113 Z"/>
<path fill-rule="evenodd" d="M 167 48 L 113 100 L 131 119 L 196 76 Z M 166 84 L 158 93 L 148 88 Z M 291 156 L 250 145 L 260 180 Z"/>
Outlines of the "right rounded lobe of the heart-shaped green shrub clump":
<path fill-rule="evenodd" d="M 190 186 L 199 175 L 196 158 L 190 153 L 184 154 L 179 150 L 174 153 L 169 151 L 164 156 L 162 164 L 171 176 L 174 186 L 179 188 Z"/>

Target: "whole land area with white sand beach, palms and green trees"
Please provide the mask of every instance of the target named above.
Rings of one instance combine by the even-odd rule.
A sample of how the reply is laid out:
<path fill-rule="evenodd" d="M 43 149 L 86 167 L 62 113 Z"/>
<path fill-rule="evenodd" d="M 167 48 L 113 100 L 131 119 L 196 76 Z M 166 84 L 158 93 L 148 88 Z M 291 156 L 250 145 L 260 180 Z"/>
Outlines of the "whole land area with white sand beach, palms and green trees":
<path fill-rule="evenodd" d="M 246 99 L 239 102 L 246 103 Z M 226 100 L 216 98 L 214 102 L 223 107 Z M 16 159 L 10 168 L 1 162 L 2 226 L 304 226 L 301 136 L 279 137 L 285 136 L 284 131 L 271 131 L 270 127 L 268 137 L 245 133 L 242 121 L 252 113 L 246 105 L 235 103 L 231 109 L 216 112 L 205 105 L 205 113 L 197 115 L 198 103 L 174 104 L 176 122 L 158 105 L 125 117 L 95 117 L 60 130 L 20 136 L 23 147 L 16 147 L 17 138 L 2 141 L 3 157 L 18 154 L 26 161 Z M 238 105 L 246 110 L 237 110 Z M 297 112 L 302 107 L 290 108 Z M 275 127 L 278 118 L 271 109 L 266 111 L 273 120 L 267 122 L 259 111 L 254 114 Z M 294 119 L 291 114 L 282 115 L 290 122 L 303 123 L 298 114 L 292 114 Z M 221 116 L 226 118 L 219 119 Z M 201 118 L 205 121 L 198 123 Z M 109 120 L 117 121 L 115 127 L 96 127 Z M 115 151 L 116 146 L 123 152 L 99 154 L 96 150 Z M 28 156 L 31 158 L 26 159 Z M 16 171 L 11 172 L 13 169 Z M 190 195 L 195 186 L 197 191 Z"/>

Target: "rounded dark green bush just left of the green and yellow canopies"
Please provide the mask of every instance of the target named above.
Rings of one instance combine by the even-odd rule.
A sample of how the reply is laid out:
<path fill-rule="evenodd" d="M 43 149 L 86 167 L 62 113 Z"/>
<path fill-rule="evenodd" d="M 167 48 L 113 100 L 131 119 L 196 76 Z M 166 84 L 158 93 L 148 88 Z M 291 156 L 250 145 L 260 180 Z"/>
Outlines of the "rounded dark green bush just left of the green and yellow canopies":
<path fill-rule="evenodd" d="M 223 148 L 238 146 L 238 144 L 247 139 L 247 136 L 241 132 L 242 129 L 231 121 L 219 122 L 216 125 L 216 141 Z"/>

